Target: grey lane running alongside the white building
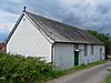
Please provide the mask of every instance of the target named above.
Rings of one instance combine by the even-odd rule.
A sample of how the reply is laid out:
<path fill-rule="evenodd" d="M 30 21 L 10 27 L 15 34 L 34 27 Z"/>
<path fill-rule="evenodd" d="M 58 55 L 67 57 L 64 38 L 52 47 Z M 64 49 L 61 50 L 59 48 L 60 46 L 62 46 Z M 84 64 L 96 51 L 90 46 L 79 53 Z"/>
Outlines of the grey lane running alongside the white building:
<path fill-rule="evenodd" d="M 54 79 L 47 83 L 103 83 L 108 74 L 107 68 L 109 66 L 111 66 L 111 62 Z"/>

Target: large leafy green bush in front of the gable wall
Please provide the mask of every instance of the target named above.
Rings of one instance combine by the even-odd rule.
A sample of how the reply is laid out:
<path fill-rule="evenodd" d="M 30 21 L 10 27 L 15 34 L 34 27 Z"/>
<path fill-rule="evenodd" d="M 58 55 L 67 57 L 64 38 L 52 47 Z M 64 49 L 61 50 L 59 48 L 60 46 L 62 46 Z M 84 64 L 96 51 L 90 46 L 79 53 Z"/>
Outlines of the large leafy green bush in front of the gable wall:
<path fill-rule="evenodd" d="M 41 83 L 52 75 L 51 63 L 0 52 L 0 83 Z"/>

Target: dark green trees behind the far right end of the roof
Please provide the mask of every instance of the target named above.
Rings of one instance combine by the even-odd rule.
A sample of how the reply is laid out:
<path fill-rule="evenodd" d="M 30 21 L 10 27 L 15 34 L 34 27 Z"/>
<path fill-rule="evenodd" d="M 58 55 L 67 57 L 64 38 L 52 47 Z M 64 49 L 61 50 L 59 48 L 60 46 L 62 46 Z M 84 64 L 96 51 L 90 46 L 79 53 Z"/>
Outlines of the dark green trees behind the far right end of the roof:
<path fill-rule="evenodd" d="M 109 33 L 99 33 L 97 31 L 91 30 L 88 30 L 88 32 L 100 39 L 102 42 L 104 42 L 107 49 L 105 54 L 111 54 L 111 35 Z"/>

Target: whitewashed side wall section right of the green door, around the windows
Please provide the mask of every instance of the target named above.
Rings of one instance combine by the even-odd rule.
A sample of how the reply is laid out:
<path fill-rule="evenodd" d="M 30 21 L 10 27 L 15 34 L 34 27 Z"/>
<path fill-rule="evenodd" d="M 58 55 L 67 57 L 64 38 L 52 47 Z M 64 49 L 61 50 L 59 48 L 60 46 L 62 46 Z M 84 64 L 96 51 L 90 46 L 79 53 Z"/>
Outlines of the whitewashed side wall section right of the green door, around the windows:
<path fill-rule="evenodd" d="M 83 49 L 83 44 L 81 44 L 81 48 Z M 100 55 L 100 48 L 102 48 L 102 55 Z M 88 55 L 85 56 L 82 51 L 80 64 L 88 64 L 99 60 L 104 60 L 104 45 L 93 45 L 93 54 L 91 54 L 91 45 L 88 45 Z"/>

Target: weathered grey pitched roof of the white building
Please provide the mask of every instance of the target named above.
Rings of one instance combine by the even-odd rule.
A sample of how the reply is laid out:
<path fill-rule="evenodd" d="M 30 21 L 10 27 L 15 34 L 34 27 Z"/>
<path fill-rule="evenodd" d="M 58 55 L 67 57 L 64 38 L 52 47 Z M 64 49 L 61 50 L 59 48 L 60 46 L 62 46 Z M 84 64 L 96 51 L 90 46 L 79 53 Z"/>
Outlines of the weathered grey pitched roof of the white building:
<path fill-rule="evenodd" d="M 26 11 L 24 14 L 27 14 L 37 27 L 39 27 L 39 30 L 41 30 L 48 38 L 50 38 L 54 42 L 103 44 L 103 42 L 98 40 L 92 34 L 89 34 L 89 32 L 84 30 L 63 24 L 61 22 L 37 15 L 28 11 Z M 16 28 L 17 24 L 12 32 L 14 32 Z M 9 39 L 10 38 L 11 35 L 9 37 Z M 7 40 L 7 42 L 9 41 L 9 39 Z"/>

